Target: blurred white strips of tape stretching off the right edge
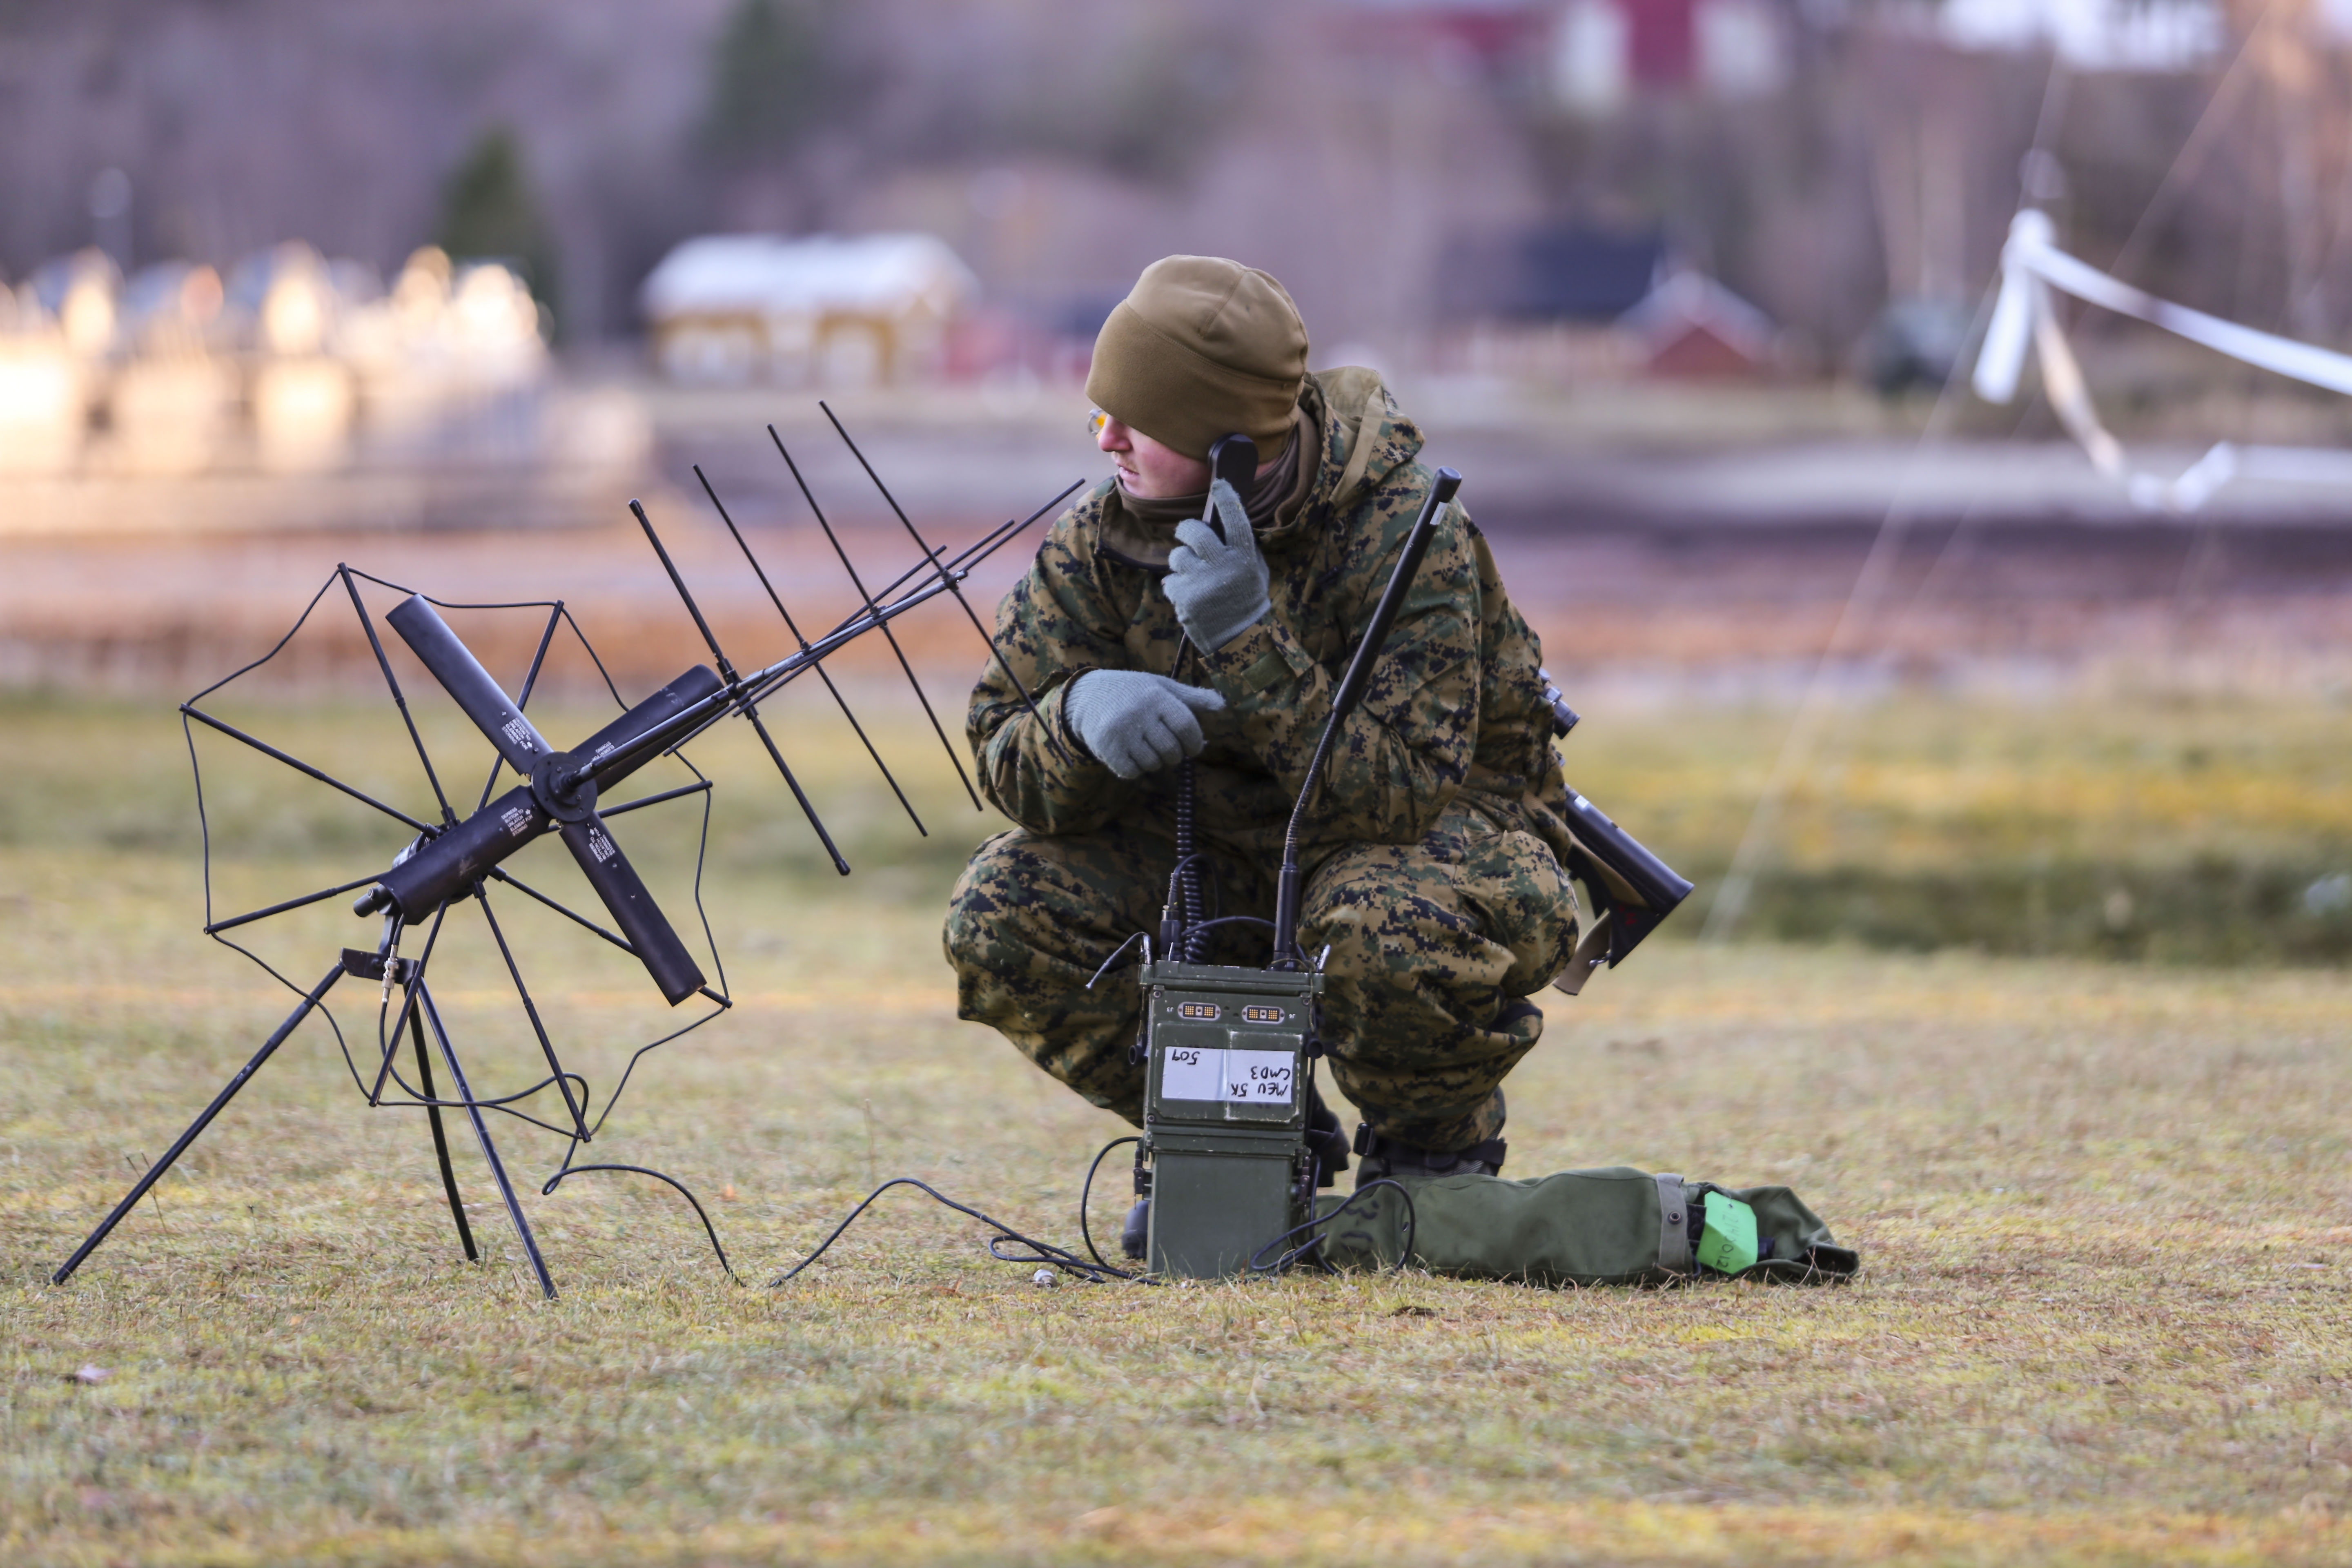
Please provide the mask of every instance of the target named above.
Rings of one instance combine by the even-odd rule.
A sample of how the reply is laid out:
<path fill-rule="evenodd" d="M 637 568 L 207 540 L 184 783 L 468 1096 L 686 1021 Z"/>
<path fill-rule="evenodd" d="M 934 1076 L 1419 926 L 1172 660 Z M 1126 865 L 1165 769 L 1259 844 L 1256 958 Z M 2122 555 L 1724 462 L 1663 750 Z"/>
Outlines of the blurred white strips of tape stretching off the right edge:
<path fill-rule="evenodd" d="M 2190 310 L 2119 277 L 2067 256 L 2058 249 L 2049 214 L 2027 207 L 2009 226 L 2002 247 L 2002 292 L 1985 327 L 1985 346 L 1976 355 L 1976 395 L 1985 402 L 2009 402 L 2025 374 L 2025 348 L 2034 350 L 2042 390 L 2091 463 L 2122 482 L 2133 505 L 2150 512 L 2194 512 L 2230 480 L 2272 480 L 2279 484 L 2352 487 L 2352 451 L 2324 447 L 2241 447 L 2213 444 L 2180 475 L 2161 480 L 2138 470 L 2124 456 L 2124 444 L 2107 433 L 2091 402 L 2082 367 L 2058 324 L 2051 289 L 2079 301 L 2161 327 L 2176 336 L 2230 355 L 2241 364 L 2352 395 L 2352 355 L 2298 343 L 2253 327 L 2225 322 L 2218 315 Z"/>

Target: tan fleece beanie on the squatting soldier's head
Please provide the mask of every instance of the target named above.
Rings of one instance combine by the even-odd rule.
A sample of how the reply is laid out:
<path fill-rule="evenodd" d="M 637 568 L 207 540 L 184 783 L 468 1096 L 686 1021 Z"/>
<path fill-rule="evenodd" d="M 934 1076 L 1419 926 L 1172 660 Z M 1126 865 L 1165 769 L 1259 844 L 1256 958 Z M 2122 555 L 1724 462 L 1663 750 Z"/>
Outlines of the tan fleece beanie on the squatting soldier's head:
<path fill-rule="evenodd" d="M 1094 339 L 1087 397 L 1162 447 L 1209 456 L 1221 435 L 1272 458 L 1308 374 L 1308 329 L 1268 273 L 1221 256 L 1164 256 Z"/>

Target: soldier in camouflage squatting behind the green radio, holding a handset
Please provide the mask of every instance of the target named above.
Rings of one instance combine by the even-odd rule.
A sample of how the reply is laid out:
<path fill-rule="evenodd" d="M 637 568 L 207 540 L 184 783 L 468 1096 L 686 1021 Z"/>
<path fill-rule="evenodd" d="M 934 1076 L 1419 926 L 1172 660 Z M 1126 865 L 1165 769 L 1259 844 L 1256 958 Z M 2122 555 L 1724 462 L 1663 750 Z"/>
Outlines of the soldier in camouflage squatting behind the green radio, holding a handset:
<path fill-rule="evenodd" d="M 1018 827 L 964 870 L 946 947 L 964 1018 L 1141 1124 L 1136 990 L 1087 980 L 1157 929 L 1174 764 L 1197 766 L 1214 912 L 1270 914 L 1291 802 L 1432 473 L 1378 374 L 1310 374 L 1291 296 L 1232 261 L 1145 268 L 1087 395 L 1117 475 L 1054 522 L 997 609 L 1037 715 L 990 665 L 969 736 Z M 1265 461 L 1247 512 L 1223 498 L 1218 538 L 1200 517 L 1228 433 Z M 1449 508 L 1305 832 L 1298 936 L 1329 945 L 1324 1039 L 1364 1114 L 1359 1180 L 1503 1166 L 1501 1084 L 1543 1034 L 1529 997 L 1576 945 L 1538 663 L 1486 541 Z M 1263 926 L 1214 938 L 1209 961 L 1265 961 Z M 1345 1166 L 1336 1121 L 1315 1119 L 1327 1168 Z"/>

